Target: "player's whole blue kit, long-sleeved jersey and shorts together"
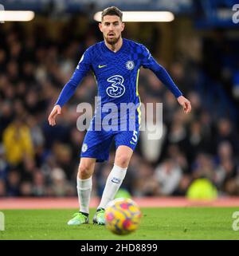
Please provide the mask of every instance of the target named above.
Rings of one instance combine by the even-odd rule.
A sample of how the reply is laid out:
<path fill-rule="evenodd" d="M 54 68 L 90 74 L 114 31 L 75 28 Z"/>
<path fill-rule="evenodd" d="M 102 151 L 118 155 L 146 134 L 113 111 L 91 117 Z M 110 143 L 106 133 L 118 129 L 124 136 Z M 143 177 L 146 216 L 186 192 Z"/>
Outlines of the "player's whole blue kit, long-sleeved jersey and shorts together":
<path fill-rule="evenodd" d="M 145 46 L 135 41 L 123 38 L 123 45 L 116 53 L 108 49 L 104 41 L 92 45 L 84 52 L 56 103 L 62 107 L 75 92 L 82 78 L 92 70 L 96 77 L 100 100 L 97 102 L 95 116 L 84 137 L 81 157 L 96 158 L 96 161 L 108 160 L 112 140 L 115 140 L 116 148 L 124 145 L 135 150 L 139 139 L 141 114 L 138 79 L 139 69 L 142 66 L 151 69 L 175 97 L 182 95 L 163 66 L 155 61 Z M 131 104 L 130 108 L 134 111 L 134 116 L 131 115 L 132 112 L 122 115 L 126 110 L 121 108 L 122 104 L 126 108 Z M 108 111 L 107 108 L 104 109 L 106 105 L 108 105 Z M 116 108 L 113 108 L 113 105 Z M 110 124 L 111 130 L 108 130 L 108 122 L 104 126 L 108 112 L 111 112 L 111 122 L 116 121 L 113 125 Z M 101 128 L 101 125 L 104 128 Z"/>

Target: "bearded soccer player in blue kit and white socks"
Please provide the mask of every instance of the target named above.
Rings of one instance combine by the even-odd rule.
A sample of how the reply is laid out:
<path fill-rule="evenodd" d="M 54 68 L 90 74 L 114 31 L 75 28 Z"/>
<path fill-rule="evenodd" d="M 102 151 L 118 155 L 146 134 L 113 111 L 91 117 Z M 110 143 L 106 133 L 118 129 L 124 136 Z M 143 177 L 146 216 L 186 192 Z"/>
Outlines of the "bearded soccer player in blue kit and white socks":
<path fill-rule="evenodd" d="M 108 103 L 116 104 L 117 107 L 121 103 L 133 103 L 139 106 L 138 78 L 141 66 L 151 69 L 159 80 L 170 89 L 185 113 L 191 110 L 190 101 L 182 96 L 166 69 L 155 61 L 149 50 L 142 44 L 122 37 L 121 33 L 124 29 L 122 16 L 122 12 L 115 6 L 108 7 L 102 12 L 99 27 L 104 41 L 92 45 L 84 52 L 75 72 L 62 89 L 57 103 L 49 115 L 49 124 L 53 126 L 56 124 L 57 115 L 61 114 L 62 106 L 73 95 L 82 78 L 91 69 L 96 77 L 98 96 L 101 98 L 90 128 L 84 137 L 80 153 L 80 165 L 76 178 L 80 211 L 69 220 L 69 225 L 88 223 L 95 163 L 108 160 L 109 148 L 114 140 L 116 144 L 114 167 L 108 175 L 100 205 L 93 218 L 93 223 L 99 225 L 105 223 L 104 209 L 119 190 L 139 139 L 140 108 L 135 108 L 135 118 L 131 118 L 128 113 L 125 116 L 129 124 L 135 125 L 134 129 L 129 128 L 127 124 L 121 131 L 115 128 L 112 130 L 102 129 L 100 120 L 103 120 L 106 114 L 101 109 L 104 108 L 104 104 Z M 118 111 L 115 112 L 116 119 L 117 113 Z M 120 122 L 121 120 L 117 120 L 116 124 L 120 124 Z"/>

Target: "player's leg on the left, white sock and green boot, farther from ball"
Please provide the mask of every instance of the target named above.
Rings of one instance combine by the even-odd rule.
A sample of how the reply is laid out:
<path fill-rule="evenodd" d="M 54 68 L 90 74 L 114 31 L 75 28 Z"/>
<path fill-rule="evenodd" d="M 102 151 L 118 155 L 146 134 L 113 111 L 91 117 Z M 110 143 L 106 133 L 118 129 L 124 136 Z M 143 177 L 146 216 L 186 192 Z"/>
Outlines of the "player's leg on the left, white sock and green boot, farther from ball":
<path fill-rule="evenodd" d="M 80 211 L 69 220 L 69 225 L 80 225 L 88 223 L 89 203 L 92 191 L 92 174 L 96 164 L 95 158 L 82 157 L 76 177 L 77 195 Z"/>

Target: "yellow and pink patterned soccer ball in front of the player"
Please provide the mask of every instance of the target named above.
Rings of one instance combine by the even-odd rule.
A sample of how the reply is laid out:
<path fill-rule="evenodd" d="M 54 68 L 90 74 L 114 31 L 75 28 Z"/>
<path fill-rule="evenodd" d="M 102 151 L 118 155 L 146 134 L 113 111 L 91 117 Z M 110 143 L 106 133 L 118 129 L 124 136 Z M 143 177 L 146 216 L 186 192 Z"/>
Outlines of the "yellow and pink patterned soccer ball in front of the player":
<path fill-rule="evenodd" d="M 114 234 L 130 234 L 139 227 L 141 216 L 132 199 L 115 199 L 105 209 L 105 226 Z"/>

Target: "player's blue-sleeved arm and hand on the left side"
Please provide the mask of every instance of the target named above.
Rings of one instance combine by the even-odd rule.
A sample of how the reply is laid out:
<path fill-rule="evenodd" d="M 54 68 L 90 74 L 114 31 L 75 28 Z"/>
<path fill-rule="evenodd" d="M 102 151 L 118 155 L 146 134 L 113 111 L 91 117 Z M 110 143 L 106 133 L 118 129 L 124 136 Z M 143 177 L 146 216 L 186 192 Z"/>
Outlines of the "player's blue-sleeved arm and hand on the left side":
<path fill-rule="evenodd" d="M 75 72 L 70 78 L 69 82 L 62 89 L 60 96 L 57 99 L 57 102 L 49 114 L 48 121 L 49 125 L 56 125 L 56 117 L 61 114 L 62 106 L 71 98 L 71 96 L 75 93 L 77 86 L 82 81 L 83 77 L 88 73 L 89 69 L 91 69 L 91 57 L 90 51 L 87 49 L 82 55 Z"/>

